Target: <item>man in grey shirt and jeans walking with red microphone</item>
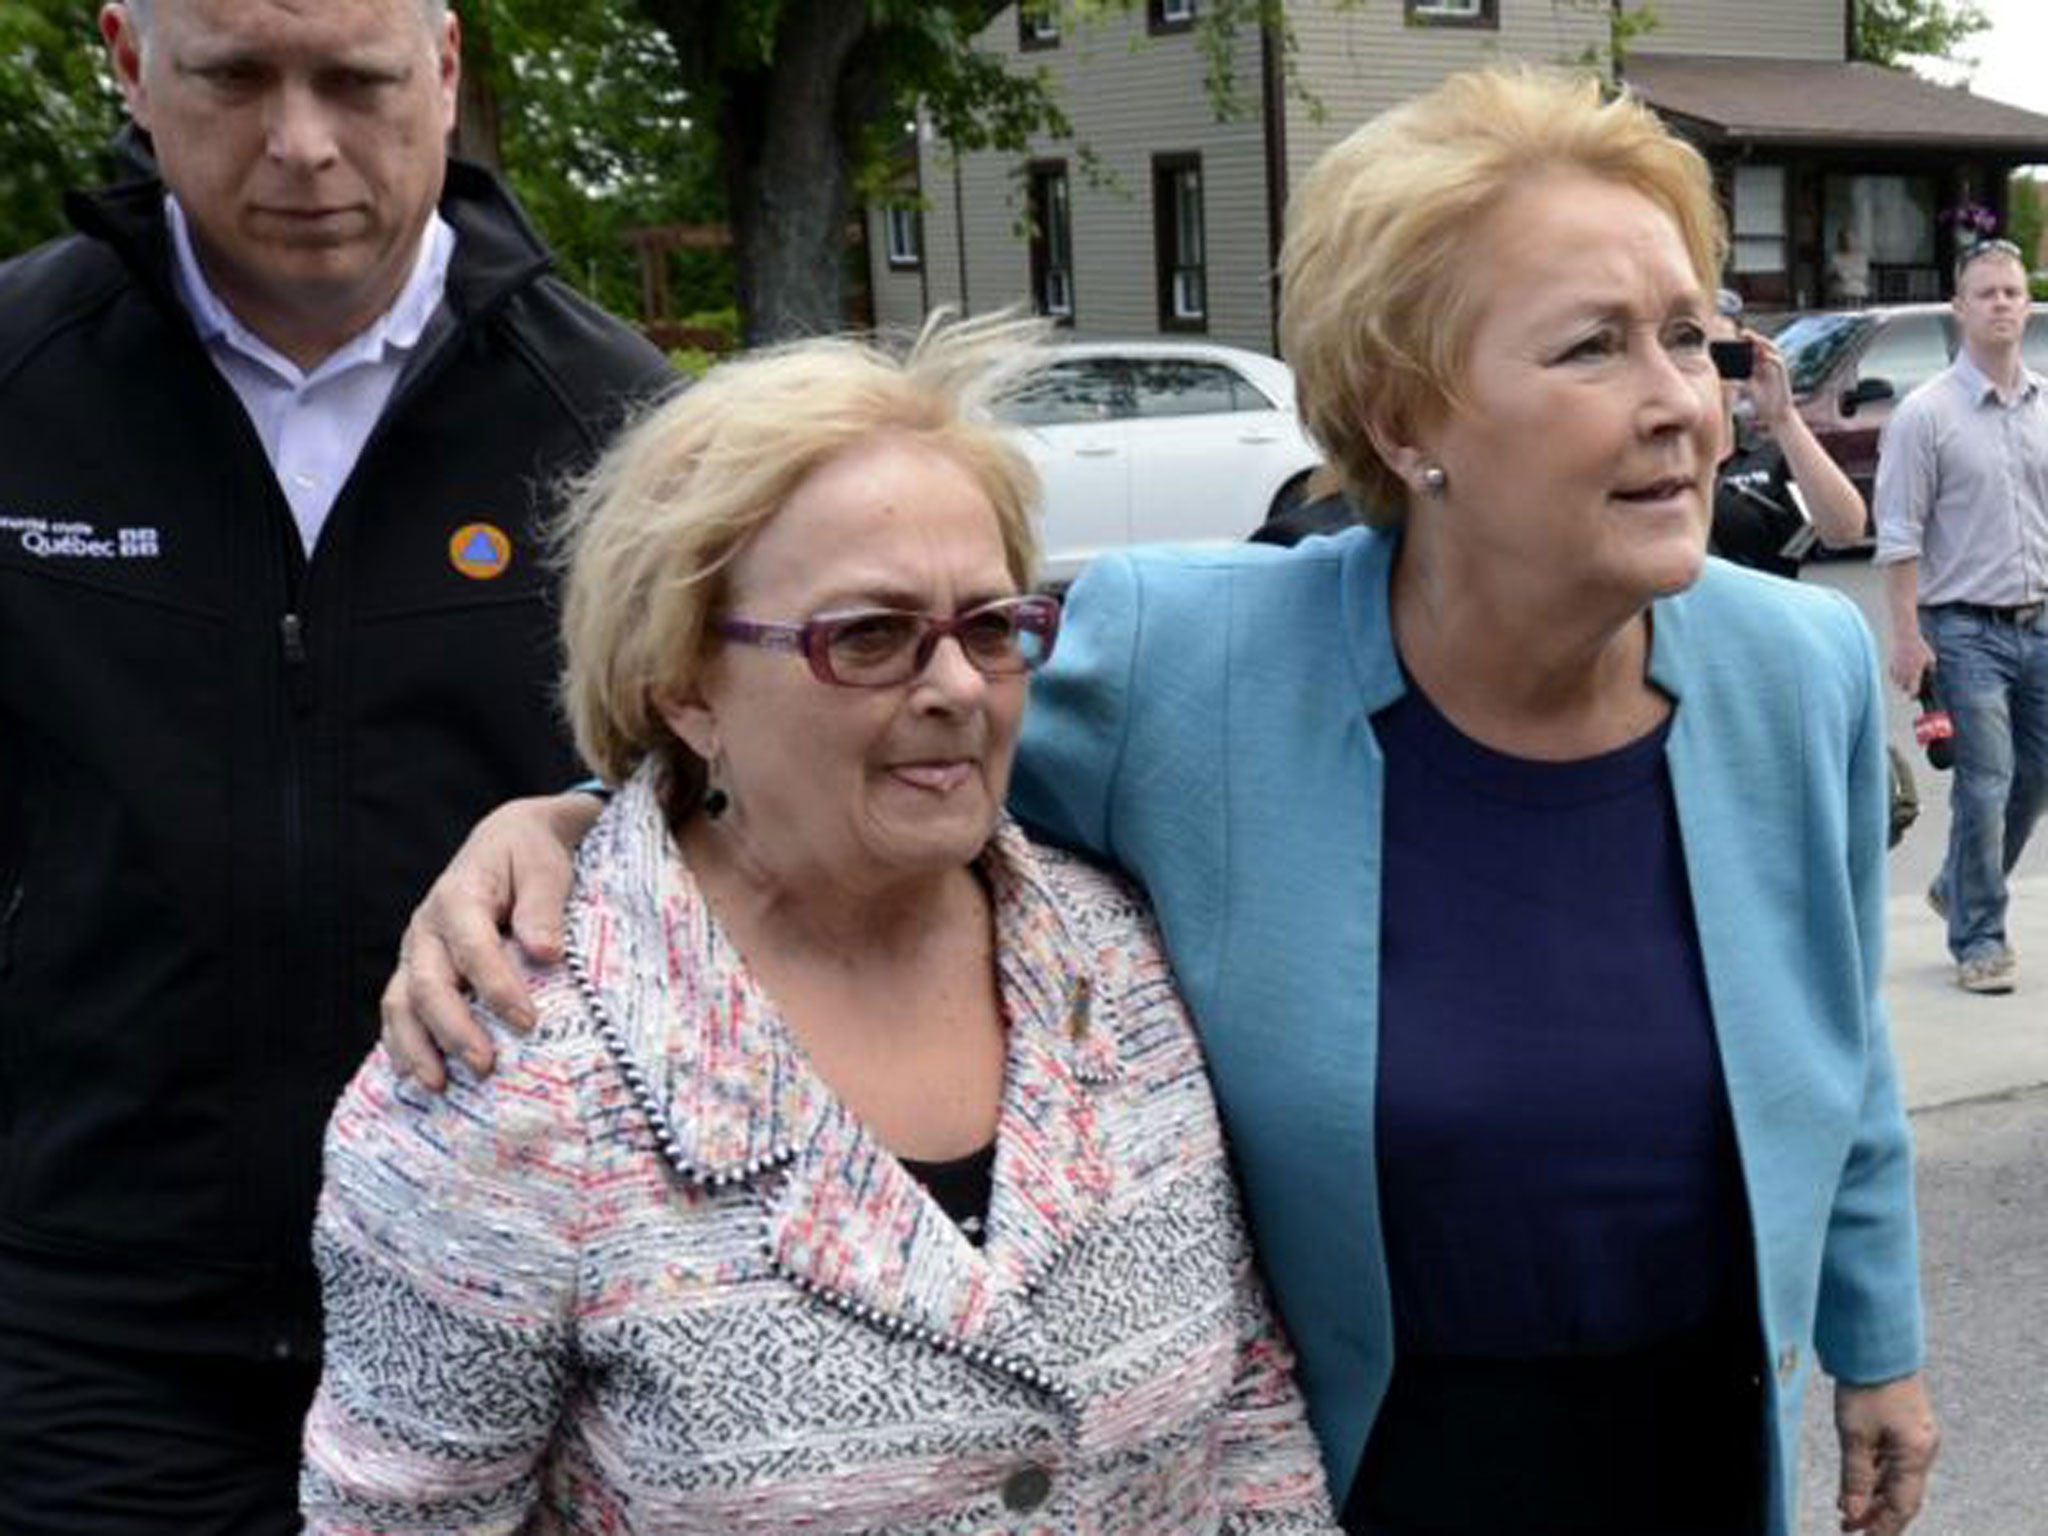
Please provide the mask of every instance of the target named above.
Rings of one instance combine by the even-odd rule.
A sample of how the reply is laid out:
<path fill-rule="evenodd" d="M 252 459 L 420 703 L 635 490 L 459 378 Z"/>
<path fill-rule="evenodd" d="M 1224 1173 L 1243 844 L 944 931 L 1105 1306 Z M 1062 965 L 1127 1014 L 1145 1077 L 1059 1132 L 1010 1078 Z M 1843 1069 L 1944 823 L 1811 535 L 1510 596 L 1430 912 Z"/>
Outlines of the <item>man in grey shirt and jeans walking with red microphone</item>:
<path fill-rule="evenodd" d="M 2013 989 L 2005 877 L 2048 801 L 2048 379 L 2019 358 L 2028 272 L 1982 240 L 1956 258 L 1962 352 L 1884 428 L 1878 553 L 1890 674 L 1933 668 L 1956 723 L 1948 856 L 1927 901 L 1964 991 Z"/>

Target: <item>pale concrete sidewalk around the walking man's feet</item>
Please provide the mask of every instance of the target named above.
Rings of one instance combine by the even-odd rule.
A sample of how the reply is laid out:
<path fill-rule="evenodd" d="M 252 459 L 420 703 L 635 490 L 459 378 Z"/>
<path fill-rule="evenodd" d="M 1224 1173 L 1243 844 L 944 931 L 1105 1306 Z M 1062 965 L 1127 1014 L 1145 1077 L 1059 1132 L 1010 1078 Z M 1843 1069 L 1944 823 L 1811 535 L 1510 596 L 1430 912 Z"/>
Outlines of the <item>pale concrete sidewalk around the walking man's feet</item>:
<path fill-rule="evenodd" d="M 2019 987 L 2003 997 L 1956 985 L 1942 920 L 1919 891 L 1890 899 L 1884 1001 L 1909 1110 L 2048 1083 L 2048 877 L 2025 874 L 2009 889 L 2005 934 Z"/>

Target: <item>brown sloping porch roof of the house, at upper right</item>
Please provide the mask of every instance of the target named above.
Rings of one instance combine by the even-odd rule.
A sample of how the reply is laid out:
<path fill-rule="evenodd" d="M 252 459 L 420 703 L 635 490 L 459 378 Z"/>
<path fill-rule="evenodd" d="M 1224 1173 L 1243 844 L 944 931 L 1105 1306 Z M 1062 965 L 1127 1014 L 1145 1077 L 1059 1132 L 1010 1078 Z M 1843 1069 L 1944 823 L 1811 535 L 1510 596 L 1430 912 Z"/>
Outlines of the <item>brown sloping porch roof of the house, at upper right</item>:
<path fill-rule="evenodd" d="M 1630 53 L 1622 78 L 1702 145 L 2048 162 L 2048 117 L 1880 63 Z"/>

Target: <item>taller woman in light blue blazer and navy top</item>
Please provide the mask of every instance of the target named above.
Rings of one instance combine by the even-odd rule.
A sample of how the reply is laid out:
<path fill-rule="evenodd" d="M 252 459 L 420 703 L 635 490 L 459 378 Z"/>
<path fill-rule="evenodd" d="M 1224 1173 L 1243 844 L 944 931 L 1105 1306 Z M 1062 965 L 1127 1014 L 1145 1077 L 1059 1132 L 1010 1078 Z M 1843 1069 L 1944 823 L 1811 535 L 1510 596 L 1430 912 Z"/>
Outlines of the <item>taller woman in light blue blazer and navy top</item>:
<path fill-rule="evenodd" d="M 1292 201 L 1282 342 L 1382 526 L 1098 561 L 1032 690 L 1012 803 L 1157 907 L 1356 1534 L 1786 1536 L 1812 1362 L 1843 1526 L 1921 1503 L 1878 672 L 1704 555 L 1724 244 L 1591 82 L 1366 125 Z M 438 938 L 518 1006 L 459 899 L 559 905 L 506 815 L 428 993 Z"/>

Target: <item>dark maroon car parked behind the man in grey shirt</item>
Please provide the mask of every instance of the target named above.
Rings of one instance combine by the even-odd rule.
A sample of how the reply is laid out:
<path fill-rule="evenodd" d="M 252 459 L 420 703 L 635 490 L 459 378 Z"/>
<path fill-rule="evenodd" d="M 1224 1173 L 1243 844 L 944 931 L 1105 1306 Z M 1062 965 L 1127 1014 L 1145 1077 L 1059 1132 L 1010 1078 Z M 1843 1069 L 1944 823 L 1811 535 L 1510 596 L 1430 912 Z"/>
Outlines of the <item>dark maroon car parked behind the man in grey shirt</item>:
<path fill-rule="evenodd" d="M 1956 311 L 1946 303 L 1819 309 L 1792 315 L 1774 338 L 1800 416 L 1868 502 L 1878 434 L 1901 399 L 1954 360 Z M 2030 369 L 2048 373 L 2048 305 L 2028 315 L 2021 352 Z"/>

